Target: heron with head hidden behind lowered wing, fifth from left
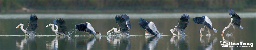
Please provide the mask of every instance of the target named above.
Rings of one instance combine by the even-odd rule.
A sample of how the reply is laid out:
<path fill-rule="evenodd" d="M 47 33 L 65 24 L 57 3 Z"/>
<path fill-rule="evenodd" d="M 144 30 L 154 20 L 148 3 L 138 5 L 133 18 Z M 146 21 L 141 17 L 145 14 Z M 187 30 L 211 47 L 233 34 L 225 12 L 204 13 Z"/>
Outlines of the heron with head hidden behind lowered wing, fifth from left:
<path fill-rule="evenodd" d="M 157 31 L 156 26 L 152 21 L 147 21 L 140 18 L 139 24 L 141 28 L 145 29 L 145 34 L 147 34 L 147 32 L 150 32 L 152 35 L 155 35 L 155 36 L 163 35 L 163 33 L 159 33 L 159 31 Z"/>

